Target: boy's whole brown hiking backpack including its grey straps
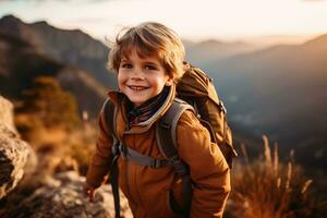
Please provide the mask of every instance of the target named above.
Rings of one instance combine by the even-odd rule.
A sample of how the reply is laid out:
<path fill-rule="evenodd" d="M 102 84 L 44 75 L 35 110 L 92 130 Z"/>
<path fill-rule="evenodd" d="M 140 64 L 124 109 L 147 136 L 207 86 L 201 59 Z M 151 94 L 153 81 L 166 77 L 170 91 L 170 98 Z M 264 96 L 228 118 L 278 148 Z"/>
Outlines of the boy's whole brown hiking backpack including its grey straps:
<path fill-rule="evenodd" d="M 114 143 L 112 146 L 113 159 L 111 162 L 110 180 L 114 198 L 116 217 L 120 217 L 118 167 L 119 156 L 132 160 L 138 165 L 153 168 L 173 167 L 175 173 L 182 177 L 183 208 L 177 204 L 173 193 L 169 199 L 171 208 L 183 217 L 189 217 L 192 199 L 192 181 L 186 164 L 178 155 L 175 129 L 178 121 L 185 110 L 193 111 L 199 122 L 209 131 L 213 143 L 216 143 L 229 167 L 232 167 L 232 158 L 238 154 L 233 148 L 232 133 L 227 123 L 227 111 L 222 101 L 218 98 L 213 80 L 201 69 L 185 64 L 185 73 L 177 85 L 177 98 L 168 111 L 156 122 L 156 140 L 164 160 L 144 156 L 136 150 L 121 144 L 116 136 L 117 108 L 109 100 L 105 102 L 104 110 L 107 122 L 113 130 Z"/>

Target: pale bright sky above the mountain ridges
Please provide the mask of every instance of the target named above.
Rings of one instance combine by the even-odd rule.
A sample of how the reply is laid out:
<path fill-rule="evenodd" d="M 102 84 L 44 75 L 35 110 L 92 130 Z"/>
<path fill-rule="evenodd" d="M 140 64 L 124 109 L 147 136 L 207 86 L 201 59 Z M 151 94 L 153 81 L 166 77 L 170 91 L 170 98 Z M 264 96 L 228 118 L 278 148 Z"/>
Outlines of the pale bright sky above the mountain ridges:
<path fill-rule="evenodd" d="M 182 38 L 301 41 L 327 33 L 327 0 L 0 0 L 0 17 L 45 20 L 113 38 L 124 26 L 161 22 Z"/>

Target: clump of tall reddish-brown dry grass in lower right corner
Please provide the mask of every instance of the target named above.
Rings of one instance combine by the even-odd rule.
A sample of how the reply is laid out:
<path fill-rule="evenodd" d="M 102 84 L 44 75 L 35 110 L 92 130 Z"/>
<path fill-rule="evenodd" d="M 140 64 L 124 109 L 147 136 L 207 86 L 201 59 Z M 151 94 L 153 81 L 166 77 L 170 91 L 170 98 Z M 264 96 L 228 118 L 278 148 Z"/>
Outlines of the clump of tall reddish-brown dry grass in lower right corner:
<path fill-rule="evenodd" d="M 264 155 L 249 161 L 242 145 L 244 162 L 233 169 L 233 190 L 227 208 L 227 217 L 295 218 L 324 217 L 325 203 L 318 203 L 311 192 L 313 180 L 303 175 L 301 167 L 292 161 L 279 161 L 278 145 L 271 150 L 267 136 Z"/>

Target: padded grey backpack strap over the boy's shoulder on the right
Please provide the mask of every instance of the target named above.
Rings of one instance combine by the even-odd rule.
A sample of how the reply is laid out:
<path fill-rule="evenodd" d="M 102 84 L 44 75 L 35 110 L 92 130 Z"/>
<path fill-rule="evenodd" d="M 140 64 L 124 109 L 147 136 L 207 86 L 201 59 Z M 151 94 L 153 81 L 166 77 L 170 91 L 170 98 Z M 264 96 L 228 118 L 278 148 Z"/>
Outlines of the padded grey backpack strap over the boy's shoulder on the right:
<path fill-rule="evenodd" d="M 170 159 L 178 154 L 177 124 L 185 110 L 194 111 L 186 101 L 175 98 L 168 111 L 156 123 L 156 140 L 161 155 Z"/>

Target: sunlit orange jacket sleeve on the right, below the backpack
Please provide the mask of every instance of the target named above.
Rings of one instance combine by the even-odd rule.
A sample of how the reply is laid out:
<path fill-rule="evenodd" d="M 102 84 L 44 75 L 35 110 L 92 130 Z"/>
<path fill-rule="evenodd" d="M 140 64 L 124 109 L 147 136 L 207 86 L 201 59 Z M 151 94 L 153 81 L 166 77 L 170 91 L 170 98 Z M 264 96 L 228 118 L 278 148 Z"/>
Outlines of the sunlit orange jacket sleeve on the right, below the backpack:
<path fill-rule="evenodd" d="M 191 217 L 222 217 L 230 193 L 230 169 L 218 146 L 192 111 L 177 128 L 179 155 L 190 167 L 193 182 Z"/>

